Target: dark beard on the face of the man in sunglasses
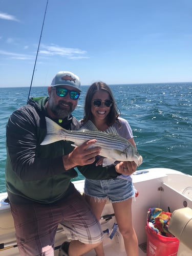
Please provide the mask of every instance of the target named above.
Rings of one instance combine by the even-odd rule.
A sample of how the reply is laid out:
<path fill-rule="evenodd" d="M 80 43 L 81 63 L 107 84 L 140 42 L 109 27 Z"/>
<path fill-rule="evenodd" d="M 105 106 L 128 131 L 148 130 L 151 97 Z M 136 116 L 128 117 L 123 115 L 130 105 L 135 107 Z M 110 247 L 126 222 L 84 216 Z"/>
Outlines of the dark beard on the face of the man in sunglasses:
<path fill-rule="evenodd" d="M 72 108 L 72 104 L 71 102 L 66 102 L 66 101 L 59 101 L 59 103 L 63 103 L 63 104 L 68 104 L 69 105 L 69 110 L 67 109 L 61 109 L 59 104 L 55 105 L 55 104 L 50 104 L 50 110 L 53 112 L 53 114 L 55 116 L 57 116 L 58 119 L 64 119 L 67 116 L 71 115 L 71 113 L 74 111 L 75 108 Z"/>

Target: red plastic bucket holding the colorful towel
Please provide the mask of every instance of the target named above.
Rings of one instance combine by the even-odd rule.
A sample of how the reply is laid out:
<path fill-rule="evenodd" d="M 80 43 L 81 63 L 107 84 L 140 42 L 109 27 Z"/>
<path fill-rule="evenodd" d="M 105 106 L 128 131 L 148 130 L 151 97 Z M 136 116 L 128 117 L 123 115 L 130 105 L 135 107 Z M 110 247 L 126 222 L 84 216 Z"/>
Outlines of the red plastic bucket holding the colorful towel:
<path fill-rule="evenodd" d="M 153 231 L 148 222 L 145 226 L 147 234 L 147 256 L 176 256 L 179 240 L 177 238 L 169 238 L 161 236 L 161 234 Z"/>

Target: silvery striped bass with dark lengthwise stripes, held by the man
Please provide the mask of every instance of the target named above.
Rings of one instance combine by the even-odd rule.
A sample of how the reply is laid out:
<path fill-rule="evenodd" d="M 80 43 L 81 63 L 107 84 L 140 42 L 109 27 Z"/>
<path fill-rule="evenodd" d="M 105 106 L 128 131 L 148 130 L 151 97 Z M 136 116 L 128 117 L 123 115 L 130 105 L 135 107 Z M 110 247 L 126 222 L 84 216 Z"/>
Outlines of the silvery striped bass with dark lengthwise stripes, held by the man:
<path fill-rule="evenodd" d="M 100 156 L 108 158 L 110 163 L 115 161 L 134 161 L 137 165 L 142 163 L 142 156 L 136 148 L 125 138 L 117 134 L 109 134 L 100 131 L 79 130 L 68 131 L 56 122 L 46 117 L 47 135 L 41 145 L 47 145 L 59 140 L 72 141 L 73 146 L 96 139 L 92 146 L 101 147 Z"/>

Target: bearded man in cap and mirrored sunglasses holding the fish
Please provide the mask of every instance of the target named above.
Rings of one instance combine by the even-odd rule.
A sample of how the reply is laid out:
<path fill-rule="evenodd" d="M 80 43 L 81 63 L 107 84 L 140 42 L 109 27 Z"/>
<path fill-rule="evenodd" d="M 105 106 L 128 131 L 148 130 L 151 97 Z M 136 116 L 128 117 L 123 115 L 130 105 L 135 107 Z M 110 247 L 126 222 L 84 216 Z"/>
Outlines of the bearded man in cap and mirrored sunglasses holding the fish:
<path fill-rule="evenodd" d="M 72 239 L 62 245 L 62 255 L 82 255 L 102 242 L 100 224 L 71 183 L 77 177 L 75 166 L 95 162 L 100 148 L 88 147 L 96 140 L 75 148 L 70 141 L 40 145 L 47 133 L 46 116 L 67 130 L 79 129 L 71 113 L 80 92 L 78 76 L 58 72 L 48 87 L 49 97 L 31 98 L 8 120 L 6 187 L 20 255 L 53 256 L 59 222 Z M 109 166 L 105 173 L 116 177 L 116 169 Z"/>

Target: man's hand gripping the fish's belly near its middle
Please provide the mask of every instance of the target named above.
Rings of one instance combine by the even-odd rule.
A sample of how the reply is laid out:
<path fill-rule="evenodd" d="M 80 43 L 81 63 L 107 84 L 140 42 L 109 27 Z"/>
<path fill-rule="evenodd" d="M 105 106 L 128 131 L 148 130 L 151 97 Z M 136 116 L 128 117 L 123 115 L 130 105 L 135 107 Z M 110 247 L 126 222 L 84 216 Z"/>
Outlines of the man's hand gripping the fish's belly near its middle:
<path fill-rule="evenodd" d="M 95 161 L 95 157 L 99 155 L 100 147 L 91 147 L 96 140 L 89 140 L 84 142 L 81 146 L 75 147 L 74 150 L 66 156 L 62 157 L 63 165 L 66 170 L 71 169 L 77 165 L 87 165 Z"/>

